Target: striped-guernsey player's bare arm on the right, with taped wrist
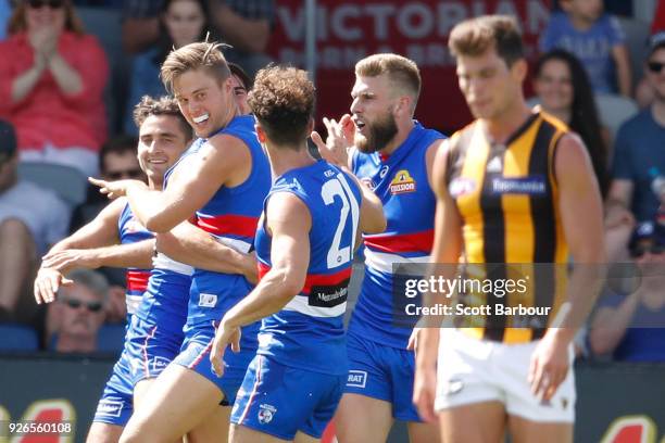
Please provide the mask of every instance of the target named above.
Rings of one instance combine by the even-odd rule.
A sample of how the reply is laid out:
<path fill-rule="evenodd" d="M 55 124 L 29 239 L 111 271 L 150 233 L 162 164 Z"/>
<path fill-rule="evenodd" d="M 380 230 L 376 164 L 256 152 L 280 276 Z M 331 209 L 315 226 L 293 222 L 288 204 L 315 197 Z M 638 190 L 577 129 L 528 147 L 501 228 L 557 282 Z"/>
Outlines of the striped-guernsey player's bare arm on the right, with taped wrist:
<path fill-rule="evenodd" d="M 554 159 L 559 210 L 573 256 L 564 303 L 531 356 L 531 391 L 549 400 L 568 371 L 568 345 L 589 315 L 604 277 L 603 208 L 587 149 L 576 135 L 559 141 Z"/>

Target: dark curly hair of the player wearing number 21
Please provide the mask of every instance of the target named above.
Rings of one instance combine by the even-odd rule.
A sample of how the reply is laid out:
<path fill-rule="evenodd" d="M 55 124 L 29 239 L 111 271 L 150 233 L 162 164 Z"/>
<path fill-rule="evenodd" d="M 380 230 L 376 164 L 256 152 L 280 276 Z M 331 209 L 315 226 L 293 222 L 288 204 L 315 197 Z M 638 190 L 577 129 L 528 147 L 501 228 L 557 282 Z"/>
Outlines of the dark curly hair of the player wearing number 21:
<path fill-rule="evenodd" d="M 316 89 L 305 71 L 274 65 L 259 71 L 247 101 L 275 144 L 298 150 L 310 136 Z"/>

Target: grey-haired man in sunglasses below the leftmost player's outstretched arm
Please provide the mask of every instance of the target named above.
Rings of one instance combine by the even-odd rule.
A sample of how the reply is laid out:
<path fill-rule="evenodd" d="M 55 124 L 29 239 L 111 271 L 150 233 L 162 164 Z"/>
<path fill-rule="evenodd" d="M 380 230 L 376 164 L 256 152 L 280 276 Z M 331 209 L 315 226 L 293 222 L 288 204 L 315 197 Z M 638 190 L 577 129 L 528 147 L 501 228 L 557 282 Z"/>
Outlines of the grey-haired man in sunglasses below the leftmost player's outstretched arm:
<path fill-rule="evenodd" d="M 95 352 L 97 332 L 104 322 L 109 283 L 90 269 L 74 269 L 67 278 L 72 282 L 61 287 L 58 303 L 49 305 L 47 342 L 58 352 Z"/>

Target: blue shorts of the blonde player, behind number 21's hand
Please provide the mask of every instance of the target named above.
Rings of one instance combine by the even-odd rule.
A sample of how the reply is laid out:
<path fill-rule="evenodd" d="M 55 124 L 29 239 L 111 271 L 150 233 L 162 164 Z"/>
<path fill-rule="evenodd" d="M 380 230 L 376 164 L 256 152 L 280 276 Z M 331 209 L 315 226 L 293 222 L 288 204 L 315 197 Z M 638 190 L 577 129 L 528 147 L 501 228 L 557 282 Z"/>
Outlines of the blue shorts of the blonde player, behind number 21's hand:
<path fill-rule="evenodd" d="M 242 379 L 244 379 L 247 367 L 256 354 L 256 349 L 247 349 L 241 343 L 240 352 L 236 354 L 229 346 L 224 353 L 224 375 L 219 378 L 213 372 L 210 363 L 210 350 L 215 339 L 215 327 L 211 322 L 185 329 L 185 342 L 183 342 L 180 354 L 173 363 L 185 366 L 215 383 L 224 394 L 222 405 L 233 405 Z"/>

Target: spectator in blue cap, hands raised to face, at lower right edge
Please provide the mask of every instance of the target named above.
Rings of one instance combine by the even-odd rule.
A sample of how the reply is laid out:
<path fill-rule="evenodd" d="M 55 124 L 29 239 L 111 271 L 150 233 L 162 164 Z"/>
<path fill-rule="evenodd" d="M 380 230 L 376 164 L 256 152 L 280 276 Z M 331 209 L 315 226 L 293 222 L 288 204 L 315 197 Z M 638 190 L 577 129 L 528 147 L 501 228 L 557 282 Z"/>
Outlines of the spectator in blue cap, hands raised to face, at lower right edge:
<path fill-rule="evenodd" d="M 626 362 L 665 362 L 665 227 L 640 224 L 630 241 L 637 265 L 627 294 L 600 300 L 589 333 L 594 354 Z M 613 288 L 618 287 L 612 284 Z"/>

